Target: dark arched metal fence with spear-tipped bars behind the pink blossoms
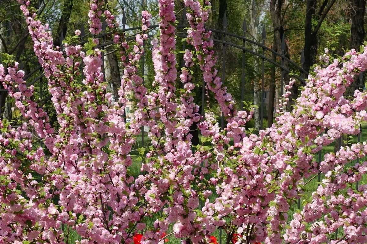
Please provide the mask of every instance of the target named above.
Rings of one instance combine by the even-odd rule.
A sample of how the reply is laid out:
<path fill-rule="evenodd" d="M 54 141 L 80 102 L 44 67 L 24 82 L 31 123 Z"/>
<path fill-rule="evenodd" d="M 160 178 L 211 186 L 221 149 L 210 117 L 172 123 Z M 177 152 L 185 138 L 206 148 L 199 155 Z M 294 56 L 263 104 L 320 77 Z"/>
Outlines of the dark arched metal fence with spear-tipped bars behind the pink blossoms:
<path fill-rule="evenodd" d="M 182 16 L 182 22 L 185 23 L 185 11 L 184 11 L 184 14 Z M 246 30 L 247 30 L 247 27 L 246 27 L 246 22 L 244 21 L 243 22 L 243 35 L 240 36 L 240 35 L 236 35 L 236 34 L 233 34 L 233 33 L 229 33 L 229 32 L 226 32 L 226 26 L 227 26 L 227 23 L 226 23 L 226 18 L 224 18 L 224 22 L 223 22 L 223 26 L 224 26 L 224 30 L 217 30 L 217 29 L 210 29 L 210 28 L 207 28 L 207 30 L 210 30 L 212 31 L 212 33 L 214 34 L 215 37 L 222 37 L 221 39 L 213 39 L 215 43 L 217 44 L 221 44 L 222 46 L 222 50 L 218 49 L 217 50 L 217 54 L 219 54 L 221 56 L 221 59 L 222 59 L 222 81 L 224 82 L 224 84 L 226 83 L 226 62 L 225 62 L 225 57 L 226 57 L 226 49 L 228 49 L 228 47 L 232 47 L 232 48 L 235 48 L 237 49 L 239 52 L 242 51 L 242 78 L 241 78 L 241 82 L 239 82 L 239 88 L 240 88 L 240 93 L 241 93 L 241 101 L 244 100 L 244 95 L 246 93 L 246 91 L 244 90 L 244 85 L 246 84 L 247 82 L 247 79 L 246 79 L 246 75 L 245 75 L 245 69 L 247 68 L 245 66 L 245 63 L 246 63 L 246 53 L 250 54 L 250 55 L 253 55 L 253 56 L 256 56 L 258 57 L 259 59 L 261 59 L 261 87 L 262 87 L 262 90 L 261 90 L 261 95 L 262 95 L 262 99 L 261 101 L 264 100 L 264 86 L 266 84 L 266 80 L 264 78 L 264 74 L 266 72 L 266 67 L 265 67 L 265 64 L 268 63 L 270 65 L 274 65 L 276 68 L 278 68 L 281 72 L 281 88 L 280 88 L 280 91 L 283 91 L 283 85 L 285 83 L 285 80 L 284 80 L 284 76 L 290 72 L 292 72 L 292 77 L 294 77 L 295 79 L 297 79 L 300 83 L 300 85 L 304 85 L 305 84 L 305 80 L 301 77 L 306 77 L 308 75 L 308 72 L 306 70 L 304 70 L 302 67 L 300 67 L 297 63 L 295 63 L 294 61 L 288 59 L 287 57 L 285 57 L 283 55 L 284 53 L 284 50 L 285 50 L 285 42 L 284 42 L 284 39 L 282 41 L 282 53 L 278 53 L 276 52 L 275 50 L 271 49 L 271 48 L 268 48 L 266 45 L 265 45 L 265 29 L 262 30 L 262 40 L 263 42 L 262 43 L 259 43 L 259 42 L 256 42 L 256 41 L 253 41 L 253 40 L 250 40 L 248 38 L 246 38 Z M 109 35 L 113 34 L 113 32 L 105 32 L 105 23 L 103 23 L 103 26 L 102 26 L 102 30 L 103 30 L 103 33 L 98 35 L 96 38 L 98 38 L 100 40 L 100 44 L 97 45 L 96 47 L 97 48 L 101 48 L 101 49 L 105 49 L 105 48 L 108 48 L 110 45 L 113 45 L 114 42 L 113 41 L 106 41 L 106 37 L 108 37 Z M 137 30 L 140 30 L 141 27 L 134 27 L 134 28 L 125 28 L 126 26 L 126 18 L 123 17 L 123 29 L 121 30 L 122 32 L 125 32 L 125 33 L 131 33 L 131 32 L 134 32 L 134 31 L 137 31 Z M 178 38 L 185 38 L 186 37 L 186 34 L 185 34 L 185 28 L 186 27 L 190 27 L 188 25 L 178 25 L 177 26 L 177 29 L 178 30 L 182 30 L 182 33 L 183 34 L 177 34 Z M 157 29 L 159 28 L 158 25 L 152 25 L 149 27 L 149 30 L 150 33 L 156 31 Z M 81 26 L 81 37 L 85 37 L 86 34 L 84 33 L 84 26 Z M 147 32 L 148 32 L 147 31 Z M 150 34 L 148 35 L 149 38 L 153 38 L 154 35 L 153 34 Z M 234 41 L 228 41 L 228 37 L 231 38 L 231 40 L 236 40 L 236 42 Z M 131 41 L 131 40 L 135 40 L 135 35 L 131 35 L 130 37 L 126 38 L 127 41 Z M 61 36 L 60 38 L 60 45 L 63 41 L 63 35 Z M 81 42 L 81 45 L 83 45 L 84 43 L 86 43 L 87 40 L 84 39 L 84 41 Z M 241 44 L 239 44 L 241 43 Z M 249 45 L 254 45 L 254 46 L 257 46 L 257 49 L 258 50 L 261 50 L 261 52 L 255 52 L 254 50 L 250 49 L 248 46 Z M 182 50 L 185 49 L 185 42 L 183 42 L 183 45 L 182 45 Z M 142 59 L 141 59 L 141 62 L 142 62 L 142 65 L 141 65 L 141 69 L 142 69 L 142 74 L 145 74 L 145 59 L 149 58 L 146 56 L 145 54 L 146 52 L 143 53 L 143 56 L 142 56 Z M 105 55 L 110 55 L 111 53 L 107 53 Z M 281 62 L 277 62 L 275 60 L 273 60 L 273 57 L 272 55 L 275 55 L 276 57 L 278 57 Z M 302 56 L 301 56 L 301 66 L 303 66 L 303 62 L 304 62 L 304 58 L 303 58 L 303 52 L 302 52 Z M 178 63 L 180 63 L 178 61 Z M 284 63 L 287 63 L 288 66 L 290 67 L 289 69 L 286 67 L 286 65 L 284 65 Z M 182 64 L 183 65 L 183 64 Z M 35 68 L 34 70 L 30 71 L 28 74 L 26 74 L 25 76 L 25 80 L 27 81 L 27 85 L 34 85 L 36 86 L 37 83 L 39 83 L 38 85 L 40 85 L 40 87 L 42 87 L 42 84 L 43 82 L 45 82 L 42 78 L 44 77 L 44 74 L 43 74 L 43 71 L 41 69 L 41 66 L 38 66 L 37 68 Z M 117 81 L 113 81 L 113 82 L 117 82 Z M 1 93 L 0 93 L 0 114 L 2 115 L 3 113 L 3 106 L 4 104 L 1 104 L 1 101 L 2 101 L 2 97 L 5 95 L 6 96 L 6 92 L 7 90 L 4 90 L 4 89 L 0 89 Z M 40 96 L 42 94 L 42 89 L 40 89 Z M 247 92 L 251 92 L 251 91 L 247 91 Z M 44 94 L 44 93 L 43 93 Z M 41 96 L 42 97 L 42 96 Z M 42 98 L 43 101 L 47 101 L 49 100 L 51 97 L 46 97 L 46 98 Z M 263 102 L 261 102 L 262 104 Z M 204 100 L 202 101 L 202 106 L 204 105 Z M 261 105 L 261 108 L 260 110 L 263 110 L 262 109 L 263 105 Z M 262 114 L 262 117 L 261 117 L 261 120 L 263 119 L 263 114 Z"/>

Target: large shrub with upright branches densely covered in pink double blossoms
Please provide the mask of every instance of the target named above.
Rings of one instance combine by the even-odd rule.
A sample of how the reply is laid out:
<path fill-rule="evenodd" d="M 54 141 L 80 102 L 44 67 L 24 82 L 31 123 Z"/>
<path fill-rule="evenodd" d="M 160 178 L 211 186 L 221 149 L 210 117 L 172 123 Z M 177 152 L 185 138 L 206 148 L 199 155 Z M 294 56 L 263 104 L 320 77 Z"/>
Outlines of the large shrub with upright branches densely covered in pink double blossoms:
<path fill-rule="evenodd" d="M 343 96 L 354 75 L 367 69 L 367 47 L 317 67 L 292 112 L 280 107 L 276 123 L 256 135 L 245 129 L 251 106 L 236 109 L 215 68 L 214 43 L 204 28 L 209 1 L 185 0 L 186 41 L 193 51 L 185 51 L 185 67 L 178 71 L 173 0 L 159 0 L 159 38 L 152 42 L 156 76 L 149 90 L 138 73 L 148 12 L 142 12 L 143 32 L 132 44 L 105 2 L 92 0 L 88 23 L 94 38 L 78 45 L 76 30 L 62 48 L 54 48 L 48 26 L 37 19 L 29 1 L 19 4 L 59 127 L 51 127 L 34 101 L 34 87 L 23 80 L 24 71 L 5 55 L 0 81 L 23 120 L 18 127 L 0 123 L 0 243 L 70 243 L 71 229 L 81 244 L 131 244 L 135 239 L 157 244 L 172 235 L 183 244 L 216 243 L 212 235 L 218 229 L 227 244 L 367 243 L 367 187 L 352 186 L 367 172 L 367 162 L 346 165 L 363 158 L 367 144 L 350 142 L 321 162 L 313 158 L 341 134 L 358 134 L 367 120 L 367 92 L 356 90 L 349 100 Z M 106 91 L 96 48 L 101 18 L 115 33 L 124 70 L 116 100 Z M 192 90 L 198 86 L 192 80 L 194 65 L 226 117 L 223 129 L 209 110 L 201 117 L 193 102 Z M 183 89 L 177 89 L 179 80 Z M 130 92 L 138 102 L 131 122 L 125 123 Z M 202 135 L 197 146 L 190 142 L 194 122 Z M 139 150 L 141 174 L 134 178 L 129 153 L 142 126 L 149 126 L 152 146 Z M 304 179 L 318 173 L 325 178 L 312 199 L 288 216 L 304 194 Z M 148 218 L 154 218 L 153 226 L 146 225 Z M 342 234 L 334 240 L 337 229 Z"/>

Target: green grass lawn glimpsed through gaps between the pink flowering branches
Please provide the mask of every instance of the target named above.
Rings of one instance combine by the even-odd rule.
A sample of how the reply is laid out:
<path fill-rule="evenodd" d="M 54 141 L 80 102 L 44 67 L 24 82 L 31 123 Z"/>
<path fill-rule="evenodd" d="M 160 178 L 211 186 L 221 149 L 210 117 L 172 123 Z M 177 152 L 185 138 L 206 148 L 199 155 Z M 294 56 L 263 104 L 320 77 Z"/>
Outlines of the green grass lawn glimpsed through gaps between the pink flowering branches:
<path fill-rule="evenodd" d="M 365 140 L 367 140 L 367 126 L 364 126 L 362 128 L 362 133 L 361 133 L 361 137 L 360 137 L 360 141 L 363 142 Z M 364 132 L 366 131 L 366 132 Z M 201 136 L 200 136 L 201 137 Z M 354 142 L 357 142 L 357 136 L 354 137 Z M 324 159 L 324 155 L 327 154 L 327 153 L 330 153 L 330 152 L 333 152 L 334 151 L 334 145 L 335 143 L 332 143 L 330 144 L 329 146 L 325 146 L 323 148 L 323 150 L 321 151 L 321 160 Z M 141 144 L 141 135 L 137 137 L 137 143 L 135 144 L 135 146 L 133 147 L 132 149 L 132 152 L 131 152 L 131 155 L 138 155 L 138 147 L 141 147 L 142 144 Z M 150 146 L 150 140 L 147 136 L 147 133 L 144 133 L 144 144 L 143 144 L 143 147 L 148 147 Z M 147 150 L 146 150 L 147 151 Z M 135 158 L 135 157 L 134 157 Z M 316 154 L 315 155 L 315 159 L 317 161 L 319 161 L 319 154 Z M 354 165 L 355 162 L 350 162 L 349 164 L 347 164 L 347 166 L 351 166 L 351 165 Z M 139 174 L 141 174 L 141 161 L 139 160 L 134 160 L 132 165 L 129 167 L 130 169 L 130 173 L 134 176 L 134 177 L 137 177 Z M 313 176 L 312 176 L 313 177 Z M 307 182 L 308 180 L 312 179 L 312 177 L 309 177 L 308 179 L 305 180 L 305 182 Z M 324 175 L 323 174 L 320 174 L 320 180 L 322 180 L 324 178 Z M 317 187 L 318 187 L 318 182 L 319 182 L 319 179 L 318 177 L 316 176 L 314 179 L 312 179 L 306 186 L 305 186 L 305 198 L 310 198 L 310 196 L 312 195 L 312 193 L 314 191 L 316 191 Z M 363 184 L 367 184 L 367 175 L 364 175 L 361 179 L 361 181 L 359 181 L 359 185 L 363 185 Z M 212 194 L 210 196 L 210 200 L 213 201 L 214 198 L 216 197 L 216 194 Z M 302 203 L 302 199 L 301 199 L 301 203 Z M 294 203 L 292 205 L 292 208 L 293 209 L 297 209 L 298 208 L 298 204 L 297 203 Z M 301 209 L 302 209 L 302 204 L 301 204 Z M 292 215 L 293 215 L 294 211 L 293 210 L 290 210 L 288 212 L 288 215 L 290 218 L 288 218 L 288 221 L 290 219 L 292 219 Z M 160 216 L 160 213 L 157 213 L 156 215 L 152 216 L 152 217 L 146 217 L 144 219 L 144 222 L 145 224 L 147 224 L 147 226 L 153 226 L 153 222 L 157 219 L 157 217 Z M 168 233 L 171 233 L 172 232 L 172 226 L 170 227 L 170 229 L 168 230 L 167 234 Z M 343 235 L 342 233 L 342 229 L 341 230 L 338 230 L 338 237 L 341 237 Z M 64 233 L 66 233 L 66 230 L 64 230 Z M 219 243 L 219 236 L 220 236 L 220 233 L 219 233 L 219 230 L 217 230 L 214 234 L 213 234 L 215 237 L 217 237 L 217 241 Z M 334 234 L 335 235 L 335 234 Z M 75 230 L 72 230 L 70 228 L 69 230 L 69 244 L 74 244 L 76 240 L 80 240 L 81 237 L 79 236 L 79 234 L 76 233 Z M 181 243 L 181 240 L 180 239 L 177 239 L 175 238 L 173 235 L 172 236 L 169 236 L 167 237 L 167 239 L 169 240 L 168 243 L 169 244 L 180 244 Z M 224 243 L 226 240 L 226 234 L 224 231 L 222 231 L 222 243 Z"/>

